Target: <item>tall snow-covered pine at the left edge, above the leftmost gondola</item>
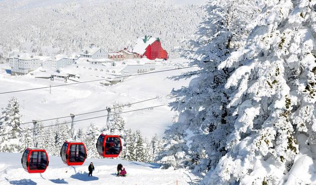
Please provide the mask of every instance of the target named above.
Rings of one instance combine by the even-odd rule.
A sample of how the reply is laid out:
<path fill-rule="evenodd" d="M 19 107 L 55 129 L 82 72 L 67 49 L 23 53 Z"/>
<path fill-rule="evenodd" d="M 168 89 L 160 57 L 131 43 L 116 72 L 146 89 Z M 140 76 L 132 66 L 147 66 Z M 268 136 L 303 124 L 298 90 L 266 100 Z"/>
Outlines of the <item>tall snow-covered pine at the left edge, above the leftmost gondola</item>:
<path fill-rule="evenodd" d="M 0 133 L 7 134 L 2 136 L 1 148 L 3 152 L 19 152 L 23 150 L 22 143 L 22 122 L 20 105 L 15 97 L 9 100 L 8 105 L 3 109 L 0 117 Z"/>

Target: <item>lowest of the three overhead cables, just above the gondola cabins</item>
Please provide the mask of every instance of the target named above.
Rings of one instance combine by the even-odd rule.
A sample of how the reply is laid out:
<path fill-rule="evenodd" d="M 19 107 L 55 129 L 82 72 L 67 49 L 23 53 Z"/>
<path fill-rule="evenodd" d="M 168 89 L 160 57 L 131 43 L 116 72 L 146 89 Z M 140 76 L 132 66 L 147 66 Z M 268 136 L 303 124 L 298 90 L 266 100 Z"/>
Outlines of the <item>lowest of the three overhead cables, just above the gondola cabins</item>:
<path fill-rule="evenodd" d="M 141 111 L 141 110 L 145 110 L 145 109 L 153 109 L 153 108 L 162 107 L 162 106 L 166 106 L 166 105 L 159 105 L 159 106 L 147 107 L 147 108 L 136 109 L 136 110 L 132 110 L 132 111 L 118 112 L 118 113 L 113 113 L 113 114 L 109 114 L 109 115 L 116 115 L 116 114 L 127 113 L 127 112 L 133 112 L 133 111 Z M 74 122 L 85 121 L 85 120 L 89 120 L 89 119 L 95 119 L 95 118 L 107 117 L 107 116 L 108 116 L 108 115 L 101 115 L 101 116 L 96 116 L 96 117 L 90 117 L 90 118 L 85 118 L 85 119 L 74 120 Z M 38 130 L 38 129 L 40 129 L 40 128 L 46 128 L 46 127 L 52 127 L 52 126 L 57 126 L 57 125 L 63 125 L 63 124 L 67 124 L 67 123 L 71 123 L 71 121 L 63 122 L 63 123 L 57 123 L 57 124 L 53 124 L 53 125 L 42 126 L 42 127 L 37 127 L 37 128 L 32 128 L 32 129 L 26 129 L 26 130 L 21 130 L 21 131 L 16 131 L 16 132 L 9 132 L 9 133 L 5 133 L 5 134 L 0 134 L 0 136 L 5 136 L 5 135 L 8 135 L 8 134 L 20 133 L 20 132 L 26 132 L 26 131 L 34 131 L 34 130 Z"/>

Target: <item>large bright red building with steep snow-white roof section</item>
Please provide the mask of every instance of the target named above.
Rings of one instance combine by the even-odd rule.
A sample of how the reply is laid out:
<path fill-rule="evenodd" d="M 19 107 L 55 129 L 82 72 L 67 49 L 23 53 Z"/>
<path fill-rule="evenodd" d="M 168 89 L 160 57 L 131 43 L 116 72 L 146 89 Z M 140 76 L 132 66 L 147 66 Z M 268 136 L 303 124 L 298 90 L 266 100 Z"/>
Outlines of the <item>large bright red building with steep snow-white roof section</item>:
<path fill-rule="evenodd" d="M 160 39 L 151 36 L 139 37 L 133 52 L 140 54 L 141 57 L 146 56 L 149 60 L 168 59 L 168 53 L 161 47 Z"/>

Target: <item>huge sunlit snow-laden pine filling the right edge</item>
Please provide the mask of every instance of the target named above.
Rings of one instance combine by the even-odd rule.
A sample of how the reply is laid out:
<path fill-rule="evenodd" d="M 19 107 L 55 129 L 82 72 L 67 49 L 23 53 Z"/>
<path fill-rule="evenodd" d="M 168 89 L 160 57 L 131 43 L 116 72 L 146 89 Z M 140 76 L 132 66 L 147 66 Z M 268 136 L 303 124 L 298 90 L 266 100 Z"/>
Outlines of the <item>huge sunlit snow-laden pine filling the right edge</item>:
<path fill-rule="evenodd" d="M 262 3 L 246 46 L 219 66 L 230 69 L 225 87 L 235 92 L 227 108 L 237 119 L 228 153 L 206 184 L 311 184 L 305 174 L 314 174 L 316 1 Z"/>

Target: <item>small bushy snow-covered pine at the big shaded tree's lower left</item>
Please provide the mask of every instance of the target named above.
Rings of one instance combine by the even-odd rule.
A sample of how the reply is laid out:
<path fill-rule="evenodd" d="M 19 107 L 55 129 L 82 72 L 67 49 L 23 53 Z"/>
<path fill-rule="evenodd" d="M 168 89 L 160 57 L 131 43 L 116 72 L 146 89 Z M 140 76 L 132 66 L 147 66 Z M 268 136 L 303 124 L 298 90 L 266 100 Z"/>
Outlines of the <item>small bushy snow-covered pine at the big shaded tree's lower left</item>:
<path fill-rule="evenodd" d="M 157 162 L 162 169 L 173 167 L 175 169 L 185 167 L 189 161 L 188 146 L 181 136 L 168 138 L 163 145 L 163 150 L 158 153 Z"/>

